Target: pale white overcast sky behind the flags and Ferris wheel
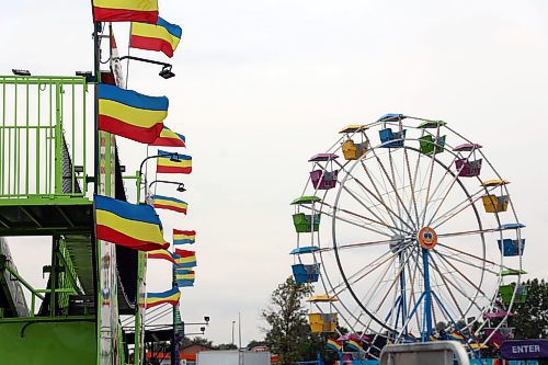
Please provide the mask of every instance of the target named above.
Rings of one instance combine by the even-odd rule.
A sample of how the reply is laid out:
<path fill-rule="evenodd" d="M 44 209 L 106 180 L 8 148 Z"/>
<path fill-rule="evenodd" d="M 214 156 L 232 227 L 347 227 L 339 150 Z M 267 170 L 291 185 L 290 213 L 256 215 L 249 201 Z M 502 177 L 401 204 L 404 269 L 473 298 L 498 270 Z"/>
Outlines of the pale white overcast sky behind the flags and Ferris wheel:
<path fill-rule="evenodd" d="M 129 88 L 168 95 L 169 124 L 187 137 L 194 173 L 181 225 L 198 231 L 199 266 L 181 308 L 186 321 L 210 316 L 206 334 L 216 343 L 230 341 L 239 311 L 243 343 L 263 337 L 260 309 L 290 273 L 288 203 L 306 182 L 308 157 L 340 127 L 387 112 L 444 119 L 486 146 L 527 225 L 525 269 L 548 276 L 546 1 L 160 0 L 160 13 L 183 27 L 176 77 L 133 64 Z M 90 1 L 9 2 L 0 28 L 0 72 L 92 68 Z M 127 27 L 116 34 L 124 49 Z M 135 171 L 145 148 L 122 146 Z M 34 239 L 12 244 L 36 285 L 48 250 Z M 167 281 L 169 266 L 151 264 L 150 288 Z"/>

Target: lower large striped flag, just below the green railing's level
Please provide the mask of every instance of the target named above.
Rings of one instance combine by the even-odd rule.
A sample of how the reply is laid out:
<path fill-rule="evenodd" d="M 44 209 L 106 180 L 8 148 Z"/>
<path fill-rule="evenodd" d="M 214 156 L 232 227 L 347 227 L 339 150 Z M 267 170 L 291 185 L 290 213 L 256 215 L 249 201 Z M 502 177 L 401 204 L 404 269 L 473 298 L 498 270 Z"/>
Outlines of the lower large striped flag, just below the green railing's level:
<path fill-rule="evenodd" d="M 95 195 L 96 238 L 140 251 L 164 249 L 161 221 L 150 205 L 135 205 Z"/>

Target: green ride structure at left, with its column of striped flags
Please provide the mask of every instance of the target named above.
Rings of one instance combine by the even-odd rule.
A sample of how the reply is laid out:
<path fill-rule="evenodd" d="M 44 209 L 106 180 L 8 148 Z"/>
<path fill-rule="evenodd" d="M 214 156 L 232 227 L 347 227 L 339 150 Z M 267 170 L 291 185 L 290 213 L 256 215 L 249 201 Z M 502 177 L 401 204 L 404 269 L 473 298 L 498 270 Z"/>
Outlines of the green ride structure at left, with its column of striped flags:
<path fill-rule="evenodd" d="M 160 344 L 173 364 L 179 360 L 184 335 L 180 288 L 193 286 L 196 256 L 176 247 L 194 243 L 195 231 L 175 226 L 164 238 L 156 209 L 185 215 L 187 204 L 157 195 L 156 183 L 175 183 L 178 192 L 184 192 L 179 174 L 191 173 L 192 157 L 164 150 L 185 147 L 185 137 L 163 124 L 168 98 L 127 90 L 121 60 L 160 65 L 163 79 L 174 76 L 171 65 L 119 57 L 112 23 L 129 26 L 128 49 L 168 57 L 182 31 L 158 16 L 157 0 L 91 3 L 93 71 L 42 77 L 13 70 L 13 76 L 0 77 L 2 364 L 140 365 Z M 124 173 L 119 137 L 147 147 L 135 174 Z M 165 174 L 178 174 L 178 181 Z M 150 182 L 148 175 L 156 179 Z M 126 194 L 127 181 L 136 185 L 137 196 Z M 33 287 L 18 272 L 4 237 L 49 240 L 45 288 Z M 28 260 L 43 259 L 28 254 Z M 147 290 L 149 259 L 162 259 L 172 269 L 167 290 Z M 165 315 L 173 319 L 160 324 L 167 330 L 149 326 Z"/>

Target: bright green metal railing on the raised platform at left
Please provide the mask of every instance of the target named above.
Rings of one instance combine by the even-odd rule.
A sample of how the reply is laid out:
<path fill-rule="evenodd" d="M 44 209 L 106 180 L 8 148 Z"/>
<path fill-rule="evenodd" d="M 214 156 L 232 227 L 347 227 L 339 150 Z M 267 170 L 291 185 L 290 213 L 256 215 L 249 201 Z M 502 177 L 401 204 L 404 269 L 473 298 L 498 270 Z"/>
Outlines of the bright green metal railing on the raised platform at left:
<path fill-rule="evenodd" d="M 85 195 L 88 105 L 83 77 L 0 76 L 0 198 Z"/>

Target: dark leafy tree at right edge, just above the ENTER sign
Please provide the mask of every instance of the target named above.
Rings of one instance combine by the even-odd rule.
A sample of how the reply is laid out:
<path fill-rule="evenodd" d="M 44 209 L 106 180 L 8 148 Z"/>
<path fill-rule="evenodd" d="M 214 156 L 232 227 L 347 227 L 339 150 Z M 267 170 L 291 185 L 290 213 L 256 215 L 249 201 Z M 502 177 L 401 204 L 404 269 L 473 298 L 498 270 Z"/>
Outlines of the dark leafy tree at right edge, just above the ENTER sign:
<path fill-rule="evenodd" d="M 527 299 L 516 304 L 512 311 L 511 326 L 515 328 L 516 339 L 548 338 L 548 283 L 538 278 L 524 283 Z"/>

